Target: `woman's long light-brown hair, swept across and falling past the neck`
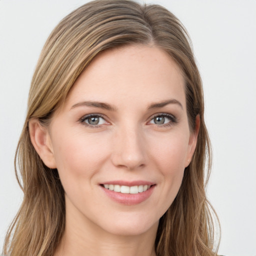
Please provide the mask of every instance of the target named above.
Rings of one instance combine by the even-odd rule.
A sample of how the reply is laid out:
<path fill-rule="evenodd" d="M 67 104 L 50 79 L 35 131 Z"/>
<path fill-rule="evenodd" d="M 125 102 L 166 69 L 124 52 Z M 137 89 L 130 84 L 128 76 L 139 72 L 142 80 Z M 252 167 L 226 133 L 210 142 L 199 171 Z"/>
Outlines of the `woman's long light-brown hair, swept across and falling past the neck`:
<path fill-rule="evenodd" d="M 185 168 L 176 198 L 159 221 L 156 254 L 216 255 L 214 210 L 205 196 L 211 164 L 210 142 L 203 119 L 201 78 L 189 36 L 181 22 L 165 8 L 131 0 L 86 3 L 63 18 L 49 35 L 31 81 L 27 116 L 16 149 L 15 171 L 24 198 L 7 232 L 3 254 L 53 255 L 65 228 L 64 191 L 58 172 L 45 166 L 33 148 L 29 120 L 38 118 L 47 125 L 93 57 L 125 44 L 153 44 L 169 54 L 185 79 L 191 130 L 195 128 L 196 115 L 200 116 L 195 152 Z"/>

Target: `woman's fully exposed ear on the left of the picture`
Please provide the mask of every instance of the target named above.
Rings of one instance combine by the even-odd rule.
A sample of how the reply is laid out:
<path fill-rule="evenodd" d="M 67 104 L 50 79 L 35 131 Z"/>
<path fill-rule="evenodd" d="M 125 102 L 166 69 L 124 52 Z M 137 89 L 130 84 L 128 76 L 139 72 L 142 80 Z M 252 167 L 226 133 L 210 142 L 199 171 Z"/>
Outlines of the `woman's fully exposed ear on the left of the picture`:
<path fill-rule="evenodd" d="M 32 145 L 44 164 L 49 168 L 56 168 L 48 128 L 43 127 L 36 118 L 28 122 L 28 128 Z"/>

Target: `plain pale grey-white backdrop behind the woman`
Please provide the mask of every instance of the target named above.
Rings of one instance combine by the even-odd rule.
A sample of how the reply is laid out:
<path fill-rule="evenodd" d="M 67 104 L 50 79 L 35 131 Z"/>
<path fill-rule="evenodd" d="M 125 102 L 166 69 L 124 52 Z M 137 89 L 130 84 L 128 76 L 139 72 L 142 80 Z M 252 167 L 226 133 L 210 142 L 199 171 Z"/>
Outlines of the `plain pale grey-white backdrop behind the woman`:
<path fill-rule="evenodd" d="M 13 158 L 40 50 L 85 0 L 0 0 L 0 249 L 22 200 Z M 256 0 L 155 0 L 187 28 L 201 72 L 213 148 L 207 195 L 219 253 L 256 255 Z"/>

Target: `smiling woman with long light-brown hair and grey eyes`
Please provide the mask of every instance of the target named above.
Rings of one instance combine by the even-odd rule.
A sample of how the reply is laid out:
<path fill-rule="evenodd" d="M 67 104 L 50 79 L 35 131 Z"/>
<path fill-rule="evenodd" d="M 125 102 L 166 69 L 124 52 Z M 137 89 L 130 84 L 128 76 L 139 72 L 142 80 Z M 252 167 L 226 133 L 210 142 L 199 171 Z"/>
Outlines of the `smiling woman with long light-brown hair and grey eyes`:
<path fill-rule="evenodd" d="M 216 255 L 188 35 L 158 5 L 89 2 L 48 37 L 17 146 L 7 255 Z M 21 185 L 21 182 L 20 182 Z"/>

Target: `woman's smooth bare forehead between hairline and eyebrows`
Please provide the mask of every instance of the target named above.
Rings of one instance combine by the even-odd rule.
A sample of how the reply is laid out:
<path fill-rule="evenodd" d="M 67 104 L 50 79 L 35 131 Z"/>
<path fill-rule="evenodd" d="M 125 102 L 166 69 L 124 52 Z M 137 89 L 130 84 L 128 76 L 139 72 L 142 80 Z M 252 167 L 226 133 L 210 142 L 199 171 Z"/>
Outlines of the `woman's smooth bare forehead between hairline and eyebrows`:
<path fill-rule="evenodd" d="M 184 79 L 174 60 L 155 46 L 127 45 L 98 54 L 73 84 L 66 103 L 143 105 L 168 98 L 185 106 Z"/>

